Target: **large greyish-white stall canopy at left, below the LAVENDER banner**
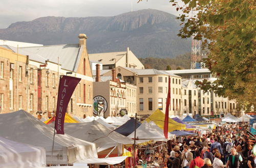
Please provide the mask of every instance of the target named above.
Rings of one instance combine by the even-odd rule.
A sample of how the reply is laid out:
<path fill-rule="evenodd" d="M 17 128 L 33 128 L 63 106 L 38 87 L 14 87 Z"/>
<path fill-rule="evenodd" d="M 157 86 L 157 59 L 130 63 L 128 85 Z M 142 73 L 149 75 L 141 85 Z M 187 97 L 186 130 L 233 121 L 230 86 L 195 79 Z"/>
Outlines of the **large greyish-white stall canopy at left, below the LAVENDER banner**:
<path fill-rule="evenodd" d="M 47 164 L 51 162 L 53 131 L 52 127 L 24 110 L 0 114 L 0 136 L 19 143 L 44 147 Z M 68 164 L 86 158 L 97 158 L 94 143 L 68 134 L 55 134 L 53 164 Z"/>

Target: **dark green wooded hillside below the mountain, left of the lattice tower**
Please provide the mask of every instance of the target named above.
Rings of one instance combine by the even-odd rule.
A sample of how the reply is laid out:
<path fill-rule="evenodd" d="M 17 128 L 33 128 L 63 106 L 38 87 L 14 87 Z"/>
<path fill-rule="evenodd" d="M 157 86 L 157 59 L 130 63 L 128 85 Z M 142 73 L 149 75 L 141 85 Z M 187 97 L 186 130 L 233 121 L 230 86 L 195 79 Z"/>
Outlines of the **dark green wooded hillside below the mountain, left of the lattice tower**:
<path fill-rule="evenodd" d="M 190 68 L 190 53 L 180 55 L 176 58 L 139 58 L 140 62 L 144 65 L 145 69 L 158 69 L 166 70 L 167 66 L 174 69 L 181 67 L 182 69 Z"/>

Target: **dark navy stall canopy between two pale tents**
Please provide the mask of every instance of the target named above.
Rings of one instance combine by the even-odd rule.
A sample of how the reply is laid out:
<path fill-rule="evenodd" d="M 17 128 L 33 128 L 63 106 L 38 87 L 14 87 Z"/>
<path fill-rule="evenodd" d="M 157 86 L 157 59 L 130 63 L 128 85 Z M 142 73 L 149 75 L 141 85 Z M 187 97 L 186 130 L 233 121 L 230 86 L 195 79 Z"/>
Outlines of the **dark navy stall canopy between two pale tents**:
<path fill-rule="evenodd" d="M 136 124 L 136 129 L 137 129 L 141 125 L 141 123 L 139 121 L 136 121 L 136 122 L 137 122 Z M 127 121 L 126 123 L 118 127 L 117 129 L 115 129 L 114 131 L 124 136 L 128 136 L 134 131 L 134 127 L 135 127 L 135 119 L 130 119 L 129 121 Z"/>

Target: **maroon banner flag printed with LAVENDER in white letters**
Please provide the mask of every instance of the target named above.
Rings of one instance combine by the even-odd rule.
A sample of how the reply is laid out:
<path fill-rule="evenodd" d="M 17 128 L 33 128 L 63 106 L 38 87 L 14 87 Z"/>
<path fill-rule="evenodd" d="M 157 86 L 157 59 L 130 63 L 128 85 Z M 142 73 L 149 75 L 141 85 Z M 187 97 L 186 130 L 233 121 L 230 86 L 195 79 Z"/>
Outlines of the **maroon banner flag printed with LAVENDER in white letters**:
<path fill-rule="evenodd" d="M 59 79 L 59 91 L 56 110 L 55 129 L 57 134 L 64 134 L 64 119 L 69 100 L 81 78 L 63 75 Z"/>

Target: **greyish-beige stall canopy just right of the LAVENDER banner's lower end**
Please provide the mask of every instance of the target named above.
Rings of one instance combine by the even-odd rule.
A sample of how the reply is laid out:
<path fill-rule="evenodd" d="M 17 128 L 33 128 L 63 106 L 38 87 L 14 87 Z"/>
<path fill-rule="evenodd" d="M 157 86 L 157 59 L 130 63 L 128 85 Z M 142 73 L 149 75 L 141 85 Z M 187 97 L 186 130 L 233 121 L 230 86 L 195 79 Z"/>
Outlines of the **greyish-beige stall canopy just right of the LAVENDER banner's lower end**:
<path fill-rule="evenodd" d="M 95 143 L 98 152 L 117 145 L 122 146 L 134 143 L 133 139 L 121 135 L 97 121 L 88 123 L 65 123 L 64 127 L 67 134 L 84 141 Z"/>

